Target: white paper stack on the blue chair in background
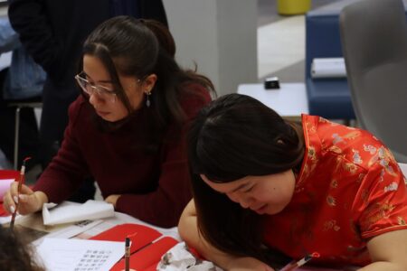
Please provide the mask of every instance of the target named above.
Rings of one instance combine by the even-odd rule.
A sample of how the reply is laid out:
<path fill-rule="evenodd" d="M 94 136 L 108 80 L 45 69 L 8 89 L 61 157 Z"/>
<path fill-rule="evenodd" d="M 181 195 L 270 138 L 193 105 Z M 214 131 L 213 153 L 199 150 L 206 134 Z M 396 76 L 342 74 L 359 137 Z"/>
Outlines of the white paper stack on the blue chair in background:
<path fill-rule="evenodd" d="M 313 59 L 311 63 L 311 77 L 345 78 L 345 60 L 343 58 Z"/>

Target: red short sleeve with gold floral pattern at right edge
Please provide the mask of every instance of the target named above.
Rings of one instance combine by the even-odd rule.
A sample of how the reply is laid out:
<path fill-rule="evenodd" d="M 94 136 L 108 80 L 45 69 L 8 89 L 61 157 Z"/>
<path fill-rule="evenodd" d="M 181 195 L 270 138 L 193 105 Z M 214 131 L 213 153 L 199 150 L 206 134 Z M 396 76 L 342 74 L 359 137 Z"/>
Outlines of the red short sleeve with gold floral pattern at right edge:
<path fill-rule="evenodd" d="M 405 226 L 407 218 L 407 190 L 401 170 L 393 154 L 383 145 L 363 145 L 371 155 L 368 172 L 360 193 L 361 217 L 359 226 L 364 238 Z"/>

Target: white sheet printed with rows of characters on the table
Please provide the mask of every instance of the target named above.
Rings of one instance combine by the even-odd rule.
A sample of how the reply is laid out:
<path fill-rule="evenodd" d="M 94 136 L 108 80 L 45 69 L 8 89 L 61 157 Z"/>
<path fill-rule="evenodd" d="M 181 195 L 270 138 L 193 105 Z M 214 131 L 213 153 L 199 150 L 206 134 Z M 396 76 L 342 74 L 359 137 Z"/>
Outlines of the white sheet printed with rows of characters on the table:
<path fill-rule="evenodd" d="M 96 271 L 114 266 L 124 247 L 124 242 L 45 238 L 36 252 L 47 271 Z"/>

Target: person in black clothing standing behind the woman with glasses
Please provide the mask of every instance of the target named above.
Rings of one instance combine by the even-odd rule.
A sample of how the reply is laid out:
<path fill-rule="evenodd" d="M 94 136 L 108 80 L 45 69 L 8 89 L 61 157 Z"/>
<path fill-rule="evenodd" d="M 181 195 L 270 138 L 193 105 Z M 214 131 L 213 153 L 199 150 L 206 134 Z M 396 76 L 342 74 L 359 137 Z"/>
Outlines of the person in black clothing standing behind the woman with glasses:
<path fill-rule="evenodd" d="M 9 0 L 8 16 L 14 30 L 20 34 L 26 51 L 48 75 L 40 125 L 43 169 L 61 145 L 68 107 L 80 93 L 73 77 L 82 43 L 99 23 L 124 12 L 167 24 L 161 0 Z M 93 196 L 95 189 L 90 183 L 74 201 Z"/>

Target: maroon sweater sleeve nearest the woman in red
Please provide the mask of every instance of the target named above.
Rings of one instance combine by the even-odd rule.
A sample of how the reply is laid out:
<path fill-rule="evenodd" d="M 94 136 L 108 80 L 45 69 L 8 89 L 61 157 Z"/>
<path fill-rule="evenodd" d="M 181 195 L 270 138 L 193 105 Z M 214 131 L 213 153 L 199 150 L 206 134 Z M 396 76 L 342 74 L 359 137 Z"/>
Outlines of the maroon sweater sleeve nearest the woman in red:
<path fill-rule="evenodd" d="M 192 198 L 186 159 L 187 127 L 199 109 L 211 99 L 208 92 L 202 87 L 196 88 L 199 88 L 204 96 L 189 99 L 183 103 L 187 120 L 179 139 L 171 144 L 166 144 L 162 149 L 163 155 L 156 191 L 147 194 L 123 194 L 118 199 L 116 210 L 159 227 L 175 227 L 178 223 L 186 203 Z M 168 134 L 171 136 L 173 133 L 170 131 Z"/>

